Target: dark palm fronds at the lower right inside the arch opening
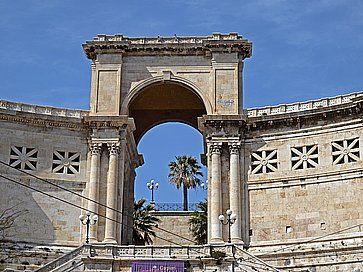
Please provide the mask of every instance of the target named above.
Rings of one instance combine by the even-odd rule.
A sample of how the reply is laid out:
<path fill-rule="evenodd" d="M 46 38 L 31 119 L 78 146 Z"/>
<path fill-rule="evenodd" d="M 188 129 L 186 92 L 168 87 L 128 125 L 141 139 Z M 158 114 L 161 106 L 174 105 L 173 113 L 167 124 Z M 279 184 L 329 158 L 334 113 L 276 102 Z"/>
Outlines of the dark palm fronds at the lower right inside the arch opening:
<path fill-rule="evenodd" d="M 198 210 L 193 212 L 190 219 L 190 230 L 192 231 L 194 240 L 198 245 L 204 245 L 207 243 L 207 210 L 208 203 L 205 199 L 197 204 Z"/>

